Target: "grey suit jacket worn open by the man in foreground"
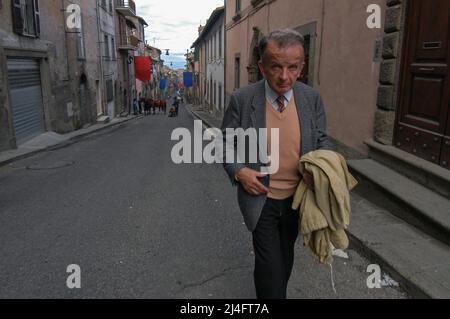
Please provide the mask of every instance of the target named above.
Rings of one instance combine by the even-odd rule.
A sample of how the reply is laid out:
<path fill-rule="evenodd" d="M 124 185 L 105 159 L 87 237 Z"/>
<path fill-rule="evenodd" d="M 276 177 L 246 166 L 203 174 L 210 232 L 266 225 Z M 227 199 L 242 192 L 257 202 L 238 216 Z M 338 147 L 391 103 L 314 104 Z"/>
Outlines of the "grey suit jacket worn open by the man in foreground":
<path fill-rule="evenodd" d="M 320 94 L 313 88 L 297 82 L 294 86 L 294 98 L 301 127 L 301 155 L 318 149 L 334 150 L 326 133 L 326 116 Z M 227 128 L 266 128 L 266 93 L 264 80 L 239 89 L 231 95 L 228 108 L 222 124 L 224 140 Z M 280 141 L 281 142 L 281 141 Z M 234 147 L 236 145 L 228 145 Z M 246 147 L 248 152 L 248 145 Z M 224 148 L 224 158 L 226 147 Z M 260 171 L 258 163 L 226 163 L 224 168 L 233 185 L 238 187 L 238 202 L 244 216 L 244 221 L 250 231 L 254 231 L 261 216 L 267 196 L 253 196 L 247 193 L 243 186 L 235 181 L 235 175 L 244 167 Z M 270 177 L 262 178 L 261 182 L 268 187 Z"/>

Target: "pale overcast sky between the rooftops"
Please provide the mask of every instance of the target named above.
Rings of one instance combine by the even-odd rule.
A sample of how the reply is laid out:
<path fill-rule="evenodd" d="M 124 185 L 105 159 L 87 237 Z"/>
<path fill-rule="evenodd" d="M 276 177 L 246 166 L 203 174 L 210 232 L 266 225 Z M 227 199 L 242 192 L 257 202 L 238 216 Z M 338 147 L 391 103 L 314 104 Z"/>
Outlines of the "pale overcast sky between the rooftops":
<path fill-rule="evenodd" d="M 181 56 L 190 49 L 198 37 L 200 22 L 205 25 L 213 10 L 223 6 L 223 0 L 136 0 L 137 14 L 149 27 L 145 36 L 148 44 L 170 49 L 170 53 Z M 165 52 L 164 52 L 165 53 Z M 184 57 L 183 57 L 184 58 Z M 165 60 L 171 60 L 164 57 Z"/>

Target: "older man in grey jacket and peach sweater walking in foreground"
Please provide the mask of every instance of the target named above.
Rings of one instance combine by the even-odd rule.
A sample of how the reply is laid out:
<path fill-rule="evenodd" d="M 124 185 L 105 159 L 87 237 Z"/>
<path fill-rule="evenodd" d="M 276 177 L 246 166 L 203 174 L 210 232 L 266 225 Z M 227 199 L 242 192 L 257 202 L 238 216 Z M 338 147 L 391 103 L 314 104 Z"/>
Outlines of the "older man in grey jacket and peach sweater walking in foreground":
<path fill-rule="evenodd" d="M 261 40 L 259 49 L 259 68 L 265 79 L 232 94 L 222 131 L 227 140 L 231 128 L 267 128 L 269 133 L 279 129 L 279 169 L 271 175 L 261 173 L 259 157 L 257 163 L 225 162 L 224 168 L 238 187 L 239 206 L 253 233 L 257 298 L 285 299 L 298 237 L 299 215 L 291 208 L 293 195 L 302 179 L 314 187 L 310 175 L 300 175 L 299 160 L 310 151 L 333 150 L 333 145 L 326 134 L 319 93 L 297 82 L 305 65 L 303 37 L 290 29 L 275 31 Z M 269 150 L 271 142 L 268 134 Z M 224 158 L 230 147 L 237 151 L 236 144 L 229 143 Z M 246 152 L 249 149 L 252 147 L 246 147 Z"/>

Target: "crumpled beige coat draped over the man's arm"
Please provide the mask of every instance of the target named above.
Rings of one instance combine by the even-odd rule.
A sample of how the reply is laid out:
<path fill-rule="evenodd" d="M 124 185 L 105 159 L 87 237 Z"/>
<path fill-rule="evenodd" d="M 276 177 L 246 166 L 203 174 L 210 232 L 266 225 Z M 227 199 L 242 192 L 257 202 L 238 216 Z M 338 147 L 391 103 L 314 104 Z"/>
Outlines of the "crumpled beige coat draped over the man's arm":
<path fill-rule="evenodd" d="M 349 173 L 342 155 L 317 150 L 300 159 L 299 170 L 314 177 L 314 191 L 302 181 L 297 188 L 292 208 L 300 208 L 300 232 L 304 244 L 323 264 L 333 262 L 332 246 L 347 249 L 345 229 L 350 224 L 350 191 L 358 184 Z"/>

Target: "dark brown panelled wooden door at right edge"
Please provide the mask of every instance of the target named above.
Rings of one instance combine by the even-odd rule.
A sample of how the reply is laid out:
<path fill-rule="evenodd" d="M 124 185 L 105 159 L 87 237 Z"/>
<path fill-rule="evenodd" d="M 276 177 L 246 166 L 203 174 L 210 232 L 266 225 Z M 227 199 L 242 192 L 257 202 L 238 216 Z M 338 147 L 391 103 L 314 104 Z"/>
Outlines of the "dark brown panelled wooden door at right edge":
<path fill-rule="evenodd" d="M 450 1 L 409 0 L 395 145 L 450 169 Z"/>

